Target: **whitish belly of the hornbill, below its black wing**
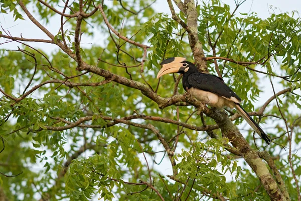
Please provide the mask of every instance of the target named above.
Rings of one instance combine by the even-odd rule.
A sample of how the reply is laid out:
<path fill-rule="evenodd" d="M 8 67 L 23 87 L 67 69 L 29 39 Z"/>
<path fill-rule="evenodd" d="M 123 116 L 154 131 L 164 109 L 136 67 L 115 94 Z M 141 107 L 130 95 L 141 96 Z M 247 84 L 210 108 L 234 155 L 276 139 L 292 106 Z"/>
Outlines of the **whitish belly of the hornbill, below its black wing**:
<path fill-rule="evenodd" d="M 226 98 L 209 91 L 190 88 L 188 92 L 201 102 L 214 108 L 234 107 L 234 103 L 231 100 L 227 100 Z"/>

